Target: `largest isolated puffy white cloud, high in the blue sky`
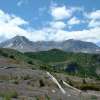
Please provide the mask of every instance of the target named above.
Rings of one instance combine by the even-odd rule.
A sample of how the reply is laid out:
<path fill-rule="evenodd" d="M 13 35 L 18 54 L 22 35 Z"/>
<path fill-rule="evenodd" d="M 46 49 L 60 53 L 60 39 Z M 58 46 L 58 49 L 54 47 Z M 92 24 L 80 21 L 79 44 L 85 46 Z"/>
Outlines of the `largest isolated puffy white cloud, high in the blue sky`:
<path fill-rule="evenodd" d="M 67 9 L 65 6 L 54 6 L 51 7 L 51 15 L 54 17 L 55 20 L 62 20 L 65 18 L 69 18 L 72 15 L 72 10 Z"/>

